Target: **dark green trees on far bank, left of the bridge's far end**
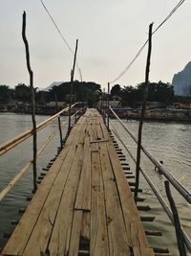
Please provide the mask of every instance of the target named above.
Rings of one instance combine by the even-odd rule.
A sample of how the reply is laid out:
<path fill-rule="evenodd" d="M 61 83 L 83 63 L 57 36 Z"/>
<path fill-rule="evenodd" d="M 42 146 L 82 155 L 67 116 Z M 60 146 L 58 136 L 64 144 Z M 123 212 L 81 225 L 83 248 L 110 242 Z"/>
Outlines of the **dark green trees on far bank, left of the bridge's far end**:
<path fill-rule="evenodd" d="M 53 86 L 49 91 L 35 88 L 35 101 L 38 105 L 44 105 L 55 100 L 55 94 L 59 102 L 69 102 L 71 93 L 71 82 L 66 81 L 60 85 Z M 94 81 L 74 81 L 73 99 L 78 102 L 86 101 L 88 105 L 96 105 L 99 94 L 101 93 L 100 84 Z M 8 85 L 0 85 L 0 104 L 9 103 L 31 103 L 31 89 L 24 83 L 19 83 L 14 89 Z"/>

